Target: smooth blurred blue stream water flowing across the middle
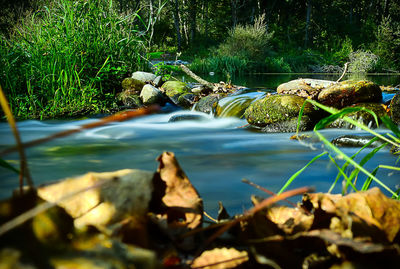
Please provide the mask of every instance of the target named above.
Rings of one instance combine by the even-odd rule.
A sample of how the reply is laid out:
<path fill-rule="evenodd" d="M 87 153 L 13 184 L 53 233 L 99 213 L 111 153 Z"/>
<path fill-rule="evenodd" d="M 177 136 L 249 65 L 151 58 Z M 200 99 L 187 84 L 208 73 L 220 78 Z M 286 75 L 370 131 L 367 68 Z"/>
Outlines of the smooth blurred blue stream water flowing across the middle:
<path fill-rule="evenodd" d="M 187 114 L 200 116 L 200 119 L 169 122 L 171 117 Z M 18 128 L 23 141 L 30 141 L 96 120 L 23 121 L 18 123 Z M 243 119 L 214 118 L 199 112 L 164 112 L 112 123 L 29 148 L 27 157 L 32 177 L 38 185 L 88 171 L 123 168 L 155 171 L 157 156 L 163 151 L 172 151 L 204 199 L 206 211 L 215 216 L 217 202 L 222 201 L 228 212 L 235 214 L 251 206 L 251 194 L 264 195 L 242 183 L 241 179 L 247 178 L 277 192 L 291 175 L 324 151 L 324 146 L 317 140 L 300 143 L 290 139 L 292 134 L 253 132 L 241 128 L 245 124 Z M 361 131 L 338 129 L 324 130 L 323 133 L 328 138 L 362 134 Z M 7 123 L 0 123 L 0 150 L 13 144 Z M 349 155 L 357 150 L 343 149 Z M 3 158 L 18 167 L 16 153 Z M 389 148 L 384 148 L 366 167 L 371 171 L 379 164 L 395 165 L 396 160 Z M 337 169 L 325 155 L 308 167 L 290 188 L 315 186 L 317 191 L 327 191 L 337 174 Z M 392 189 L 400 184 L 400 172 L 379 170 L 377 176 Z M 18 176 L 0 167 L 0 178 L 0 198 L 5 198 L 18 186 Z M 358 185 L 364 179 L 360 176 Z M 340 191 L 341 182 L 335 188 L 335 192 Z"/>

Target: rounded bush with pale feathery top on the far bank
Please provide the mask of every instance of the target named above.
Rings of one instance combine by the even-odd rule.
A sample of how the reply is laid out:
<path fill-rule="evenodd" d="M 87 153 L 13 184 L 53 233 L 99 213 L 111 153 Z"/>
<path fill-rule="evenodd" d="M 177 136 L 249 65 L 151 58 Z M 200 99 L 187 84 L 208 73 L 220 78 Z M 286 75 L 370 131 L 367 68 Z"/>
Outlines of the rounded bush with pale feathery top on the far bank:
<path fill-rule="evenodd" d="M 218 47 L 217 55 L 262 61 L 270 49 L 272 36 L 273 33 L 267 32 L 265 15 L 262 15 L 253 25 L 238 25 L 230 30 L 227 40 Z"/>

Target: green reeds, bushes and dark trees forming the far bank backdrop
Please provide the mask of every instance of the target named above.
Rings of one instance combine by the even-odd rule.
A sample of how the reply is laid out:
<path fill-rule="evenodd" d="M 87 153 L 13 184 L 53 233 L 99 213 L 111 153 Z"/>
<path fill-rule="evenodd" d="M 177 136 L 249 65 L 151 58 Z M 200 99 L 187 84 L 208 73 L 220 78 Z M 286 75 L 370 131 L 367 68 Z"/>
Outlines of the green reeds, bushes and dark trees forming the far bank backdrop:
<path fill-rule="evenodd" d="M 0 81 L 15 115 L 118 109 L 121 81 L 149 61 L 198 73 L 400 70 L 394 0 L 1 0 Z M 170 67 L 159 65 L 166 74 Z"/>

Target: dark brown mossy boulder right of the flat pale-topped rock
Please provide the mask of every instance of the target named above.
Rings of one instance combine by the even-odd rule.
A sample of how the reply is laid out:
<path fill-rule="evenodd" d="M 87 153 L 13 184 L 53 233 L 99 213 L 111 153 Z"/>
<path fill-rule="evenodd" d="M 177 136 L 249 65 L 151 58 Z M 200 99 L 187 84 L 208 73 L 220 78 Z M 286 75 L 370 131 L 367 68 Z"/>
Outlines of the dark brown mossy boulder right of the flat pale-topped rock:
<path fill-rule="evenodd" d="M 347 80 L 321 90 L 318 101 L 336 108 L 356 103 L 379 103 L 382 101 L 382 90 L 370 81 Z"/>

